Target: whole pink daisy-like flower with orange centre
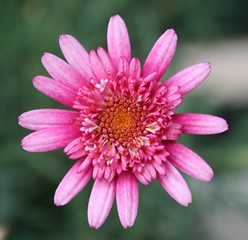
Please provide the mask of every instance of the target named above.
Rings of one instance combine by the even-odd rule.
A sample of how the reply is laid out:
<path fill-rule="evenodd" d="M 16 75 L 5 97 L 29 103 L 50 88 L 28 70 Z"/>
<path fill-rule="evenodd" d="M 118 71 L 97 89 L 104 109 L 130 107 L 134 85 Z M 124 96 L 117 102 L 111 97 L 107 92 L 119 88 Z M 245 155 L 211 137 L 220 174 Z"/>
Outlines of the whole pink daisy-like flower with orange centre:
<path fill-rule="evenodd" d="M 39 109 L 19 117 L 21 126 L 35 130 L 23 139 L 25 150 L 64 148 L 76 160 L 55 192 L 55 204 L 67 204 L 91 178 L 88 221 L 94 228 L 104 223 L 115 198 L 123 227 L 134 224 L 138 182 L 158 180 L 180 204 L 191 203 L 178 169 L 202 181 L 211 180 L 213 171 L 176 140 L 182 133 L 216 134 L 228 127 L 222 118 L 175 109 L 208 76 L 209 63 L 160 81 L 176 50 L 175 31 L 162 34 L 141 67 L 131 58 L 128 31 L 118 15 L 108 24 L 108 51 L 99 47 L 88 53 L 70 35 L 61 35 L 59 44 L 66 61 L 45 53 L 42 64 L 52 78 L 37 76 L 33 84 L 71 110 Z"/>

